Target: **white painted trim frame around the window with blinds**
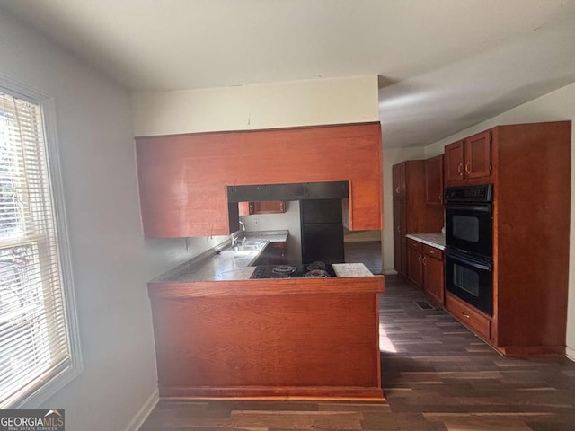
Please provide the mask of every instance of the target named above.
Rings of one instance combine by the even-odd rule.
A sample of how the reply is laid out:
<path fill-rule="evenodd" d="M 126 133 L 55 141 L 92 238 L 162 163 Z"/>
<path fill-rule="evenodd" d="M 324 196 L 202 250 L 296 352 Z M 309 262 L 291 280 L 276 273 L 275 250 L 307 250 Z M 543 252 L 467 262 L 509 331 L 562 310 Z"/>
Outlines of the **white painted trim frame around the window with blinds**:
<path fill-rule="evenodd" d="M 69 339 L 70 365 L 42 384 L 40 388 L 22 400 L 9 406 L 12 409 L 36 409 L 41 403 L 54 396 L 58 391 L 72 382 L 75 377 L 82 374 L 84 364 L 80 343 L 77 307 L 75 300 L 75 286 L 70 257 L 70 242 L 66 220 L 66 203 L 64 199 L 64 182 L 62 180 L 59 148 L 57 142 L 56 105 L 54 98 L 49 94 L 40 92 L 25 84 L 17 83 L 11 78 L 0 75 L 0 91 L 13 97 L 30 101 L 40 105 L 42 112 L 46 155 L 49 170 L 49 189 L 52 195 L 54 222 L 57 229 L 57 244 L 59 248 L 59 263 L 61 268 L 62 291 L 67 316 L 67 330 Z"/>

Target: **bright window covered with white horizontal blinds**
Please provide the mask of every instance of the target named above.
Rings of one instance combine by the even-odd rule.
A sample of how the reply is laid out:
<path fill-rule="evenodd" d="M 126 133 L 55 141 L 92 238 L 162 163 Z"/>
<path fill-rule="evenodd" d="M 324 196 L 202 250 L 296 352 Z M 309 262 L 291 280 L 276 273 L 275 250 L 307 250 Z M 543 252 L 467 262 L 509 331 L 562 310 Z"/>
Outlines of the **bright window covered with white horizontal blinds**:
<path fill-rule="evenodd" d="M 40 103 L 0 87 L 0 409 L 34 407 L 81 368 Z"/>

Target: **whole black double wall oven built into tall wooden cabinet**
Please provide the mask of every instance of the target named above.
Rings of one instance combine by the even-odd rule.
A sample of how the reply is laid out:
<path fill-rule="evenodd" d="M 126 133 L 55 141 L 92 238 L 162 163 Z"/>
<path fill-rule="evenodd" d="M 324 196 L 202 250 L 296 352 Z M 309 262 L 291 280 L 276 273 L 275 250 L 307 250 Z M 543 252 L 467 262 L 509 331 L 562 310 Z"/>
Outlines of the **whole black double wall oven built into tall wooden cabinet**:
<path fill-rule="evenodd" d="M 446 289 L 491 315 L 493 185 L 447 187 Z"/>

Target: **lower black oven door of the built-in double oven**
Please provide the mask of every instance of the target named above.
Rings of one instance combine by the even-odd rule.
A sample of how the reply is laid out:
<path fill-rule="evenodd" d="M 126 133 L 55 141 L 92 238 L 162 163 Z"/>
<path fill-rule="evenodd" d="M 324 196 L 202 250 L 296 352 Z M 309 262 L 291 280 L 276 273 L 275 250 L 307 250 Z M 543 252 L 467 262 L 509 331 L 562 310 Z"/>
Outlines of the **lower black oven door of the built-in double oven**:
<path fill-rule="evenodd" d="M 446 247 L 446 289 L 465 303 L 491 315 L 491 259 Z"/>

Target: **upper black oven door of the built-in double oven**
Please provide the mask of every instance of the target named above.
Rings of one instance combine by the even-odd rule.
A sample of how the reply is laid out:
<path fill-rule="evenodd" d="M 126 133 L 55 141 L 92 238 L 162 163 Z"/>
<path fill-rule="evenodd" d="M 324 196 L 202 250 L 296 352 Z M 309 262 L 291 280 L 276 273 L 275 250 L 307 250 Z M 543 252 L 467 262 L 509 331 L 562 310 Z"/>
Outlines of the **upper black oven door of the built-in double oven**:
<path fill-rule="evenodd" d="M 491 204 L 446 204 L 446 245 L 491 258 L 491 224 Z"/>

